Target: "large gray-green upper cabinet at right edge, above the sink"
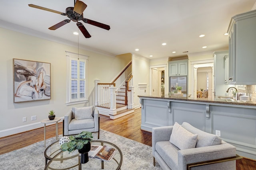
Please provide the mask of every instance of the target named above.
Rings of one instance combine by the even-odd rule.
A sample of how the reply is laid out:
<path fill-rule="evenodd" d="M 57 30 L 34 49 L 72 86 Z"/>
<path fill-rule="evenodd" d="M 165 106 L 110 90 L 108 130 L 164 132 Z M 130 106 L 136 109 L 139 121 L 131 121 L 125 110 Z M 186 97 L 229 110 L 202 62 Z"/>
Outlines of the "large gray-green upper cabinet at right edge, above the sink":
<path fill-rule="evenodd" d="M 256 10 L 232 17 L 228 33 L 229 84 L 256 84 Z"/>

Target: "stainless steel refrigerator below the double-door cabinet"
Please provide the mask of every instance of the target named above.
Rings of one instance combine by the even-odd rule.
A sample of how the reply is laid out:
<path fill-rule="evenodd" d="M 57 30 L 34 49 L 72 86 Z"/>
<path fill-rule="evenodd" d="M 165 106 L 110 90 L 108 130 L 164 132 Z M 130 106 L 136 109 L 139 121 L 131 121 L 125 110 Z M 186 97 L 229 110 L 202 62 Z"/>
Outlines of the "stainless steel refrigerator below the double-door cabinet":
<path fill-rule="evenodd" d="M 169 92 L 176 90 L 177 86 L 181 86 L 182 93 L 187 94 L 187 76 L 170 76 L 169 86 Z"/>

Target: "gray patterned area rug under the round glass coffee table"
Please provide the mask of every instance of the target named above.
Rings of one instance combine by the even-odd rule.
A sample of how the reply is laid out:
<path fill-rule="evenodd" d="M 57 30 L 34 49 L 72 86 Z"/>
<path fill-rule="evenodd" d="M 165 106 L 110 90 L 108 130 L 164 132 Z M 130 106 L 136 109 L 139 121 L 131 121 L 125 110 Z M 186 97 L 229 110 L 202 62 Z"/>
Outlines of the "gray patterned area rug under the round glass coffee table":
<path fill-rule="evenodd" d="M 93 133 L 93 140 L 97 139 Z M 59 135 L 59 139 L 62 137 Z M 46 147 L 55 137 L 46 140 Z M 152 147 L 100 129 L 100 139 L 117 145 L 123 154 L 121 170 L 162 170 L 153 165 Z M 44 141 L 0 155 L 0 170 L 44 170 Z M 78 167 L 77 167 L 78 169 Z"/>

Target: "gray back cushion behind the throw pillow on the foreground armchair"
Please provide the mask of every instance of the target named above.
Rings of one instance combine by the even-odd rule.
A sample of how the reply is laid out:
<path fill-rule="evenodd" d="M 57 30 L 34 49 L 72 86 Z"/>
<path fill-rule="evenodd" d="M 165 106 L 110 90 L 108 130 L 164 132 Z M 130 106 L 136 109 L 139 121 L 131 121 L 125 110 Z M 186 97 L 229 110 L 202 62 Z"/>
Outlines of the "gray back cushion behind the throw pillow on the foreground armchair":
<path fill-rule="evenodd" d="M 196 148 L 221 144 L 222 139 L 217 135 L 201 131 L 200 129 L 193 127 L 187 122 L 183 122 L 182 127 L 184 127 L 187 131 L 198 135 Z"/>

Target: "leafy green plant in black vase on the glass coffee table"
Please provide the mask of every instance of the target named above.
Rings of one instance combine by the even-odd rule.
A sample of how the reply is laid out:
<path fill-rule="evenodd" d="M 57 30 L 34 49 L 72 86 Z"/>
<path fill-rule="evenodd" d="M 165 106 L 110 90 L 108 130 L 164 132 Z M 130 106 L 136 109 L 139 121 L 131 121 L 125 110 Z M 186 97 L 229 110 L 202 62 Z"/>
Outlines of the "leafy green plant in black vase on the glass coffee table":
<path fill-rule="evenodd" d="M 70 141 L 63 143 L 60 148 L 63 151 L 68 150 L 69 153 L 77 149 L 81 154 L 81 163 L 85 164 L 89 161 L 88 152 L 91 149 L 92 138 L 92 132 L 82 131 L 76 136 L 69 136 Z"/>

